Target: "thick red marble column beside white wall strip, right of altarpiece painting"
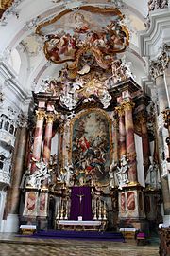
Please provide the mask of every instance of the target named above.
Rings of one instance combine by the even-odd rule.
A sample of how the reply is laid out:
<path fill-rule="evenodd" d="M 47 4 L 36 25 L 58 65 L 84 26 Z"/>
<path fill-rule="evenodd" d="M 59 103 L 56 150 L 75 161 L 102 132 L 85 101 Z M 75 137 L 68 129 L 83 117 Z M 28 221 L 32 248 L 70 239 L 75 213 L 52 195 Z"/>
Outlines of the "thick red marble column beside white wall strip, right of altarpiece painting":
<path fill-rule="evenodd" d="M 136 163 L 136 150 L 134 141 L 134 126 L 132 117 L 132 108 L 134 103 L 126 101 L 122 104 L 125 111 L 125 127 L 126 127 L 126 148 L 128 159 L 128 180 L 129 185 L 137 184 L 137 163 Z"/>

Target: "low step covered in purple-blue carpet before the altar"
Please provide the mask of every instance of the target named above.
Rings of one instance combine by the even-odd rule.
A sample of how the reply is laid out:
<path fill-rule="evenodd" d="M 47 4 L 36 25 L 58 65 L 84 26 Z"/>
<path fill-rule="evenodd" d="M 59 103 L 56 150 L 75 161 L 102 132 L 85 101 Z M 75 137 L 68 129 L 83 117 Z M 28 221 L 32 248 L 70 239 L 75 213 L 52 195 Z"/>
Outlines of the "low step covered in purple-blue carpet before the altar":
<path fill-rule="evenodd" d="M 125 238 L 121 232 L 97 232 L 97 231 L 69 231 L 69 230 L 41 230 L 32 237 L 49 238 L 49 239 L 84 239 L 84 240 L 103 240 L 114 242 L 125 242 Z"/>

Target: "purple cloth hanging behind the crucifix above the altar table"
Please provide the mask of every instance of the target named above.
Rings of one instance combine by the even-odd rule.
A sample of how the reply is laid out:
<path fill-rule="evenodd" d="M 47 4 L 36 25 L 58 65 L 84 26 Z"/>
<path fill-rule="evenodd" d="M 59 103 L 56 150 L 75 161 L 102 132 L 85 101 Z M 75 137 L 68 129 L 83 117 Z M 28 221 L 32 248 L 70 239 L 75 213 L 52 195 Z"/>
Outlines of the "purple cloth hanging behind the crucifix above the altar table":
<path fill-rule="evenodd" d="M 73 187 L 71 192 L 70 220 L 93 220 L 91 187 Z"/>

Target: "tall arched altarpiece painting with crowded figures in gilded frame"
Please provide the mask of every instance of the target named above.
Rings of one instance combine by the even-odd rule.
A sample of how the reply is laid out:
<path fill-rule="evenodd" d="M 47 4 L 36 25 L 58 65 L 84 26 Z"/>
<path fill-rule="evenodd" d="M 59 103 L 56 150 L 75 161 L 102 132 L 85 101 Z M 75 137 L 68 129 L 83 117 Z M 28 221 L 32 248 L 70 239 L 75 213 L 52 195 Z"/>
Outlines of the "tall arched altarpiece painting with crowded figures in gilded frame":
<path fill-rule="evenodd" d="M 77 185 L 109 182 L 110 120 L 100 111 L 86 111 L 73 123 L 72 161 Z"/>

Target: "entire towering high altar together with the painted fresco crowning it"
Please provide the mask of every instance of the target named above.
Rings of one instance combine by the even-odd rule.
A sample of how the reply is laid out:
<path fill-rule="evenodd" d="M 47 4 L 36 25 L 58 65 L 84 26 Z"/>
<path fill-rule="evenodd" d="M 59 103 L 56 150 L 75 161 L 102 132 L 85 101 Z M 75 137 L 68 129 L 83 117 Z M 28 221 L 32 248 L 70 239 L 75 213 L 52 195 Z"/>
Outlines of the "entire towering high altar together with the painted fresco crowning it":
<path fill-rule="evenodd" d="M 153 109 L 123 58 L 123 22 L 118 9 L 82 6 L 37 27 L 57 72 L 33 93 L 23 223 L 146 229 L 159 211 Z"/>

